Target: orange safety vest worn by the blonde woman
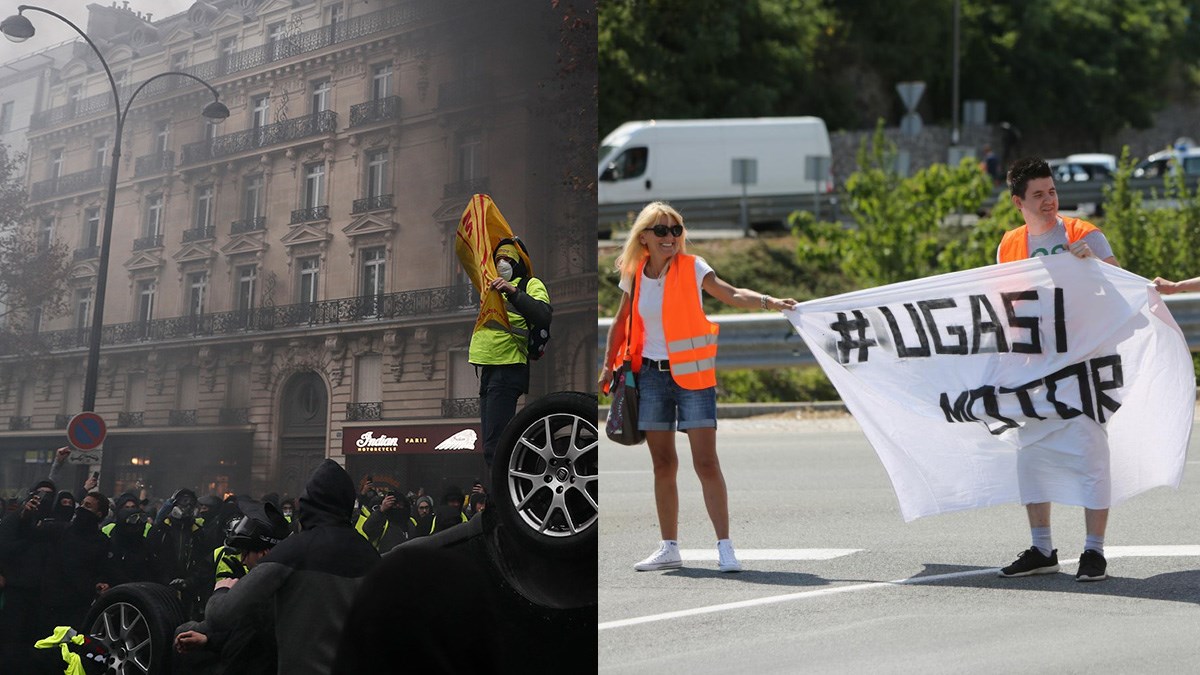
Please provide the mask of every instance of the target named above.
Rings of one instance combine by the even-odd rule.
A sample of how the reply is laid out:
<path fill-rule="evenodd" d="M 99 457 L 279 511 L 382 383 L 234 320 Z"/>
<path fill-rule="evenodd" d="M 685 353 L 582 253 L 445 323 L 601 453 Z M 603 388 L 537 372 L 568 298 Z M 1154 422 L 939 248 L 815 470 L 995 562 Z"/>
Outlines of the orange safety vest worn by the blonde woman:
<path fill-rule="evenodd" d="M 638 280 L 644 268 L 646 262 L 637 268 Z M 634 372 L 642 369 L 642 345 L 646 342 L 642 317 L 637 313 L 641 294 L 642 285 L 637 283 L 630 306 L 634 322 L 629 350 L 622 358 L 631 362 Z M 676 253 L 662 287 L 662 333 L 676 384 L 684 389 L 716 387 L 716 334 L 720 329 L 704 316 L 696 285 L 696 257 Z"/>

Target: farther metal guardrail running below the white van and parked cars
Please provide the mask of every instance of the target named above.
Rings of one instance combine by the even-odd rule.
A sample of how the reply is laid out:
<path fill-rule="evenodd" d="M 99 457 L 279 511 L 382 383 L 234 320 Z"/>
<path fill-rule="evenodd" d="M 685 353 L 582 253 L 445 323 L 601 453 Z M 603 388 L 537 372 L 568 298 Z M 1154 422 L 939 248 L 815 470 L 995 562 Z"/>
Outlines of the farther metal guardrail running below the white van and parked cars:
<path fill-rule="evenodd" d="M 1162 178 L 1136 178 L 1129 181 L 1130 187 L 1141 192 L 1144 198 L 1150 198 L 1151 192 L 1162 196 L 1166 187 Z M 1193 187 L 1200 180 L 1189 180 Z M 1088 180 L 1080 183 L 1056 184 L 1058 191 L 1058 204 L 1063 209 L 1075 209 L 1080 205 L 1092 204 L 1103 208 L 1104 186 L 1111 185 L 1111 180 Z M 984 201 L 983 208 L 990 210 L 996 204 L 996 199 L 1004 193 L 1004 190 L 996 190 L 991 197 Z M 751 229 L 769 231 L 787 227 L 787 217 L 796 211 L 816 213 L 822 220 L 847 220 L 846 204 L 850 198 L 844 192 L 828 192 L 814 196 L 809 193 L 797 195 L 773 195 L 763 197 L 746 197 L 746 210 Z M 600 238 L 606 238 L 605 233 L 612 231 L 613 226 L 624 227 L 632 216 L 646 205 L 646 202 L 629 202 L 622 204 L 600 204 L 598 225 Z M 742 227 L 742 198 L 728 197 L 720 199 L 672 199 L 671 205 L 683 214 L 686 223 L 696 229 L 736 229 Z"/>

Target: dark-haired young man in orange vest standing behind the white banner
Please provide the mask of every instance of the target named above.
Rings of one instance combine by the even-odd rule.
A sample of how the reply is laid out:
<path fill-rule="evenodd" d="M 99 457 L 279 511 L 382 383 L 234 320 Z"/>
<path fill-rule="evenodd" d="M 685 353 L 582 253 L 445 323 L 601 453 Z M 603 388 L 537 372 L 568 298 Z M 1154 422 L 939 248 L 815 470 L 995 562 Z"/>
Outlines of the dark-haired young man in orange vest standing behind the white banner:
<path fill-rule="evenodd" d="M 1025 159 L 1015 162 L 1008 172 L 1008 189 L 1015 205 L 1025 217 L 1025 225 L 1004 234 L 996 251 L 996 261 L 1001 263 L 1050 256 L 1069 251 L 1080 258 L 1099 258 L 1109 264 L 1117 264 L 1108 239 L 1094 225 L 1058 214 L 1058 193 L 1055 190 L 1050 166 L 1040 159 Z M 1037 498 L 1036 465 L 1037 448 L 1022 448 L 1018 454 L 1018 472 L 1021 483 L 1022 498 L 1031 495 Z M 1100 581 L 1108 578 L 1104 560 L 1104 530 L 1109 521 L 1108 485 L 1109 462 L 1108 448 L 1086 448 L 1078 458 L 1080 466 L 1078 478 L 1097 485 L 1093 501 L 1103 508 L 1085 508 L 1084 524 L 1087 539 L 1084 554 L 1079 557 L 1076 581 Z M 1050 502 L 1033 501 L 1025 504 L 1030 519 L 1033 545 L 1008 567 L 1000 571 L 1001 577 L 1028 577 L 1031 574 L 1051 574 L 1058 572 L 1058 551 L 1050 539 Z"/>

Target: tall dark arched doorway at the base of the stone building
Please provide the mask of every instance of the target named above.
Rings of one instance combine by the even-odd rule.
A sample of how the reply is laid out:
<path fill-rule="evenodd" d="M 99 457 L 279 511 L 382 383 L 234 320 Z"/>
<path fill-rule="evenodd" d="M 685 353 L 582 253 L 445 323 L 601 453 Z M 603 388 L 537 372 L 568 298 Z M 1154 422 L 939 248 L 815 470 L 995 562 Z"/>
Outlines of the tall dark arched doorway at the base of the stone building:
<path fill-rule="evenodd" d="M 298 372 L 280 398 L 280 495 L 299 497 L 325 459 L 329 389 L 316 372 Z"/>

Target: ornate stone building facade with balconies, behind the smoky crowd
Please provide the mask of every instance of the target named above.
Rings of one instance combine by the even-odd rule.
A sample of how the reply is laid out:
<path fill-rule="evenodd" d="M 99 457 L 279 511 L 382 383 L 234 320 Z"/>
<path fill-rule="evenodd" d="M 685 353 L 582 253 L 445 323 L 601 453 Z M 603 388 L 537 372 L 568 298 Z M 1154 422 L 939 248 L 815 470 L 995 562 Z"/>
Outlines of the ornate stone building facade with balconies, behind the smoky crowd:
<path fill-rule="evenodd" d="M 132 101 L 96 400 L 104 491 L 296 495 L 326 456 L 414 490 L 469 485 L 480 453 L 433 447 L 478 428 L 466 356 L 478 294 L 454 255 L 475 192 L 529 244 L 554 305 L 529 398 L 594 388 L 595 199 L 575 178 L 594 165 L 595 65 L 571 55 L 568 10 L 202 0 L 154 18 L 89 6 L 122 104 L 178 70 L 232 112 L 210 124 L 211 94 L 181 77 Z M 26 317 L 32 351 L 0 356 L 7 494 L 44 472 L 82 406 L 114 131 L 107 77 L 79 49 L 29 131 L 43 211 L 29 225 L 72 246 L 74 267 L 71 311 Z M 343 449 L 372 426 L 420 448 Z"/>

